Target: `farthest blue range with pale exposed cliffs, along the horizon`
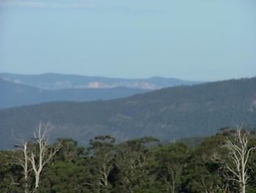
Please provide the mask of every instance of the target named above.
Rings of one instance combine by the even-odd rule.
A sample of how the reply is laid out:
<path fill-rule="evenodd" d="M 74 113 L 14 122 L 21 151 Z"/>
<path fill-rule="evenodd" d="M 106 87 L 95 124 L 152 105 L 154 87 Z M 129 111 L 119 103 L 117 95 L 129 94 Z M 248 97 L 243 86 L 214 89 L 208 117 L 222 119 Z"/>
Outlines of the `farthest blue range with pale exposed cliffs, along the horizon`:
<path fill-rule="evenodd" d="M 161 88 L 200 83 L 160 77 L 153 77 L 149 79 L 112 79 L 62 74 L 16 75 L 2 73 L 0 74 L 0 77 L 6 81 L 41 90 L 110 89 L 120 87 L 140 90 L 158 90 Z"/>

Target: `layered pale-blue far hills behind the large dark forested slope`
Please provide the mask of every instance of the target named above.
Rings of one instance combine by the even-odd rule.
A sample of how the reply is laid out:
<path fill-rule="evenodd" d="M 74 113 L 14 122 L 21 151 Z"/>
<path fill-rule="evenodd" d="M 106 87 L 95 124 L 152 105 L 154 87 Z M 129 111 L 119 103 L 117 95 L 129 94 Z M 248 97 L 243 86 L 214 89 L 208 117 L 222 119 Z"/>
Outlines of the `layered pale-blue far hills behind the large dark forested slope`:
<path fill-rule="evenodd" d="M 0 74 L 0 109 L 47 101 L 114 99 L 192 84 L 196 82 L 164 78 L 126 80 L 61 74 Z"/>

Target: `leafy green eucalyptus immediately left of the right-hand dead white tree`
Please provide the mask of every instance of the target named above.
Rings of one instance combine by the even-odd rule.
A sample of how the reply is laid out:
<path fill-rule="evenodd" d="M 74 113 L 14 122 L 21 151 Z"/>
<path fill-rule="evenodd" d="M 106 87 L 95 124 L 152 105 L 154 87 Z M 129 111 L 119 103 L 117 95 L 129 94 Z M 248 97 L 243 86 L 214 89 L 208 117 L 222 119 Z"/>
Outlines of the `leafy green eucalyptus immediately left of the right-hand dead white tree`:
<path fill-rule="evenodd" d="M 220 175 L 221 164 L 215 160 L 223 142 L 222 134 L 213 135 L 204 138 L 189 151 L 182 173 L 184 192 L 232 192 L 225 178 Z"/>

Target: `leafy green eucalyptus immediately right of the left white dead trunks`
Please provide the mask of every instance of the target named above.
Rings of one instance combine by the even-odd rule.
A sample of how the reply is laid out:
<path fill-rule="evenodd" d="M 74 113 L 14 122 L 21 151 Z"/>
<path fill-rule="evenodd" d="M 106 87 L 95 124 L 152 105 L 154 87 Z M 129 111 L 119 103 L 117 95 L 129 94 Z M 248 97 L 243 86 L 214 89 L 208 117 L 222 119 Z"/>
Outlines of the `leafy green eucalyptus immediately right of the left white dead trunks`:
<path fill-rule="evenodd" d="M 58 138 L 53 145 L 60 142 L 61 148 L 42 174 L 40 192 L 92 192 L 88 148 L 71 138 Z"/>

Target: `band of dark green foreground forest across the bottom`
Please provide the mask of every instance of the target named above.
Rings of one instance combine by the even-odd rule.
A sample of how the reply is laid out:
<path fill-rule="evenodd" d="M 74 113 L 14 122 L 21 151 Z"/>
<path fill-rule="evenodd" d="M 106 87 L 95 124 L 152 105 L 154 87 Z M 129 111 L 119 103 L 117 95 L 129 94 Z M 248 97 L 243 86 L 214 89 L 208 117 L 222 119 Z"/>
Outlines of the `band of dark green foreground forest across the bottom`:
<path fill-rule="evenodd" d="M 29 141 L 29 157 L 32 152 L 40 152 L 40 136 Z M 242 128 L 220 130 L 194 145 L 185 141 L 161 143 L 152 137 L 118 143 L 110 135 L 97 136 L 88 146 L 80 146 L 70 138 L 44 144 L 48 149 L 45 157 L 57 151 L 51 159 L 43 159 L 48 161 L 36 189 L 31 161 L 25 180 L 24 149 L 17 146 L 16 150 L 0 152 L 1 192 L 254 193 L 256 190 L 256 136 L 255 132 Z M 237 149 L 245 154 L 239 154 Z M 39 153 L 34 156 L 36 164 L 39 157 Z M 244 179 L 240 179 L 242 170 Z"/>

